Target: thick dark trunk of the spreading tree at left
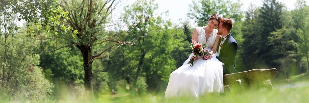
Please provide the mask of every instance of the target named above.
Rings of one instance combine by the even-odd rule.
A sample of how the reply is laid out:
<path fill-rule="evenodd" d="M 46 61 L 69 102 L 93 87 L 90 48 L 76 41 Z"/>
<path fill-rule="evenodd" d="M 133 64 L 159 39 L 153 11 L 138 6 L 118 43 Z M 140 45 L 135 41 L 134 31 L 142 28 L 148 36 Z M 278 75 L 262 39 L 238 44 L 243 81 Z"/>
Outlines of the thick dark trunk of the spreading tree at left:
<path fill-rule="evenodd" d="M 84 82 L 86 91 L 93 92 L 92 86 L 92 55 L 91 55 L 91 46 L 88 45 L 77 45 L 78 49 L 82 52 L 83 55 L 83 67 L 84 67 Z"/>

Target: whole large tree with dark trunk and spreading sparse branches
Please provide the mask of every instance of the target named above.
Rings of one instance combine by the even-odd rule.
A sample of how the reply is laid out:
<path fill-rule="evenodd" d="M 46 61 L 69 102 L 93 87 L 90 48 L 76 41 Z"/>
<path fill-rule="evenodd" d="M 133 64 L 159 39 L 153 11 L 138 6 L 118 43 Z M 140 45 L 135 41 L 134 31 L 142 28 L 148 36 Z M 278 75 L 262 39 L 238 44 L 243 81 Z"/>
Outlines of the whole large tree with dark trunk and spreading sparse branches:
<path fill-rule="evenodd" d="M 94 59 L 104 58 L 119 48 L 121 45 L 132 45 L 136 38 L 127 39 L 133 28 L 121 23 L 126 18 L 119 19 L 118 22 L 112 21 L 114 15 L 111 13 L 116 9 L 120 1 L 116 0 L 83 0 L 83 1 L 60 1 L 63 11 L 68 12 L 68 18 L 62 21 L 63 26 L 71 27 L 64 32 L 70 31 L 76 34 L 76 37 L 68 35 L 59 35 L 48 37 L 40 35 L 44 40 L 54 39 L 58 45 L 52 50 L 55 51 L 65 47 L 76 46 L 83 57 L 84 83 L 87 91 L 92 91 L 92 62 Z M 132 19 L 145 19 L 143 15 Z M 130 25 L 137 25 L 134 22 Z M 114 27 L 114 29 L 111 29 Z"/>

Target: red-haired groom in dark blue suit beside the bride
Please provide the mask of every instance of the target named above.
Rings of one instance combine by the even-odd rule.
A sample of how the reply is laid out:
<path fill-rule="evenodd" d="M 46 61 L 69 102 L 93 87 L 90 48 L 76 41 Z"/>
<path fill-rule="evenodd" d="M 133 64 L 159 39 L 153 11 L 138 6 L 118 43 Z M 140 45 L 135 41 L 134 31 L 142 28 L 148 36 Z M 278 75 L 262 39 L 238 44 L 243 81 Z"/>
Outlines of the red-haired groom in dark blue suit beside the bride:
<path fill-rule="evenodd" d="M 236 73 L 235 68 L 235 55 L 237 53 L 237 42 L 231 35 L 233 22 L 231 19 L 222 18 L 218 26 L 218 35 L 221 35 L 217 52 L 219 56 L 216 57 L 222 62 L 223 74 Z M 209 57 L 209 59 L 212 56 Z M 208 58 L 206 58 L 208 59 Z"/>

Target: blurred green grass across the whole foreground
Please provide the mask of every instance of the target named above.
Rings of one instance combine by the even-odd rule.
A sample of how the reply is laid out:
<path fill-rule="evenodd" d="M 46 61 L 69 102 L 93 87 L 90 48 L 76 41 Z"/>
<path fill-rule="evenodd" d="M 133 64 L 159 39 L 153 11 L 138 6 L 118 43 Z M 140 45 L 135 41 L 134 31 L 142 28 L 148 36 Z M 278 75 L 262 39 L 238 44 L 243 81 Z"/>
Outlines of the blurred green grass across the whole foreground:
<path fill-rule="evenodd" d="M 306 82 L 308 84 L 308 82 Z M 280 84 L 282 85 L 282 84 Z M 117 91 L 118 94 L 102 94 L 88 96 L 86 93 L 74 93 L 62 90 L 57 96 L 48 100 L 0 100 L 3 102 L 40 102 L 40 103 L 303 103 L 309 101 L 309 85 L 296 88 L 274 86 L 273 90 L 247 90 L 240 93 L 225 93 L 223 95 L 208 94 L 202 97 L 164 98 L 164 92 L 133 95 L 128 91 Z"/>

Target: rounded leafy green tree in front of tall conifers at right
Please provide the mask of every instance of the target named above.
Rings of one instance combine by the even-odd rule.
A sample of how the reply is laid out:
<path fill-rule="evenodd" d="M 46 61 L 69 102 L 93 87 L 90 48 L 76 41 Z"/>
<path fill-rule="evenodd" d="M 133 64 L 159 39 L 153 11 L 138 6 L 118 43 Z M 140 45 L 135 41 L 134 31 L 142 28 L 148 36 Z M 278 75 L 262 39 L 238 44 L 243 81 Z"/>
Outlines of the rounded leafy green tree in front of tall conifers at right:
<path fill-rule="evenodd" d="M 296 64 L 297 58 L 297 40 L 299 37 L 298 33 L 294 28 L 282 28 L 275 32 L 271 32 L 267 37 L 267 46 L 271 47 L 268 49 L 269 64 L 278 68 L 279 72 L 282 72 L 284 79 L 288 79 L 287 71 L 289 71 L 292 65 Z"/>

